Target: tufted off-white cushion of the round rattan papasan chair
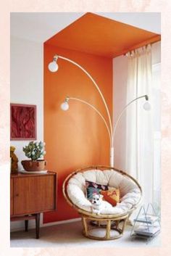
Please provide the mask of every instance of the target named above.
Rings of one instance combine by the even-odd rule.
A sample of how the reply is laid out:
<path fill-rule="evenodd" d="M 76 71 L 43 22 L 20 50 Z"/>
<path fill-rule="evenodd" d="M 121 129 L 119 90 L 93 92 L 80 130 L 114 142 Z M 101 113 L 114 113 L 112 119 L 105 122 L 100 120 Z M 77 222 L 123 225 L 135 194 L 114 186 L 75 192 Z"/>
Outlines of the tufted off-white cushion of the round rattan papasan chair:
<path fill-rule="evenodd" d="M 72 176 L 67 184 L 67 194 L 77 207 L 91 212 L 91 202 L 86 198 L 86 181 L 120 189 L 120 203 L 101 210 L 101 214 L 122 214 L 128 212 L 141 198 L 141 191 L 128 176 L 114 170 L 87 170 Z"/>

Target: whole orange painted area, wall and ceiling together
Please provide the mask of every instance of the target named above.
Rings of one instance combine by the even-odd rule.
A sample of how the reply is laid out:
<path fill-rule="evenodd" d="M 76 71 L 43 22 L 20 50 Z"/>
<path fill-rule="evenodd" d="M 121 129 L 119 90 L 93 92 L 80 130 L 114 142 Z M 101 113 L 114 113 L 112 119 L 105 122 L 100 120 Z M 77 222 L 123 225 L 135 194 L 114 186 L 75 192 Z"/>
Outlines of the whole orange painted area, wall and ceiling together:
<path fill-rule="evenodd" d="M 92 81 L 79 67 L 58 59 L 59 70 L 50 73 L 54 54 L 83 66 L 96 80 L 112 116 L 112 57 L 159 41 L 160 36 L 122 22 L 86 13 L 44 44 L 44 140 L 48 169 L 58 173 L 57 212 L 44 215 L 44 222 L 78 217 L 62 195 L 64 178 L 81 167 L 109 165 L 109 137 L 101 117 L 87 105 L 70 102 L 66 96 L 90 102 L 107 118 L 104 104 Z"/>

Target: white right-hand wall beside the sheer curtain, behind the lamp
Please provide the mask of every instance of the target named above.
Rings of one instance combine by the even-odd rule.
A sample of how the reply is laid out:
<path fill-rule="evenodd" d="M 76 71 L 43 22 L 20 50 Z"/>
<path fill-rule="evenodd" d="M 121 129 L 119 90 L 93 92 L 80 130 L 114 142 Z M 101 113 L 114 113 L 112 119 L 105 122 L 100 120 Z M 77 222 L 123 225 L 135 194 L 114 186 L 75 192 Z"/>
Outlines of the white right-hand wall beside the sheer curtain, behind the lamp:
<path fill-rule="evenodd" d="M 152 65 L 161 62 L 161 42 L 152 44 Z M 113 59 L 113 123 L 126 105 L 127 94 L 128 59 L 119 56 Z M 114 139 L 114 166 L 125 170 L 125 121 L 126 115 L 122 116 L 117 126 Z"/>

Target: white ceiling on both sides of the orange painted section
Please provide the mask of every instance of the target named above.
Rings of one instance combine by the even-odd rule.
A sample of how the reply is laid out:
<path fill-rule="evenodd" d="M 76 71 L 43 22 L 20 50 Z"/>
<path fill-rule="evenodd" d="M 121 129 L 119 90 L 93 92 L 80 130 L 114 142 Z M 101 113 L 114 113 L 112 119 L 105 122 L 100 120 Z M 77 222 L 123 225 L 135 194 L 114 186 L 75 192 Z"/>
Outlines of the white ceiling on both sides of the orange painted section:
<path fill-rule="evenodd" d="M 81 12 L 12 12 L 11 36 L 43 43 L 84 14 Z M 99 12 L 96 14 L 154 33 L 161 33 L 159 12 Z"/>

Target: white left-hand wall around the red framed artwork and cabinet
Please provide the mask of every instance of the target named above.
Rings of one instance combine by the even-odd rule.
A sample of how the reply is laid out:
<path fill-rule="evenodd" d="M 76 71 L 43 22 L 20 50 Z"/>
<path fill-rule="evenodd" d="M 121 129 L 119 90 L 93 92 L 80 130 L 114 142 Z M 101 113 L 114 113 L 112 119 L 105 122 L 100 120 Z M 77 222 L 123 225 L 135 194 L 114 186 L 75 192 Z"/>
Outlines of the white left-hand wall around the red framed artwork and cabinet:
<path fill-rule="evenodd" d="M 10 102 L 36 104 L 37 140 L 43 141 L 43 44 L 14 36 L 11 37 L 10 44 Z M 28 141 L 11 141 L 11 145 L 16 147 L 19 169 L 22 168 L 21 160 L 27 159 L 22 152 L 25 144 Z M 12 222 L 11 230 L 18 230 L 23 226 L 24 221 Z M 30 221 L 30 226 L 35 226 L 35 223 Z"/>

